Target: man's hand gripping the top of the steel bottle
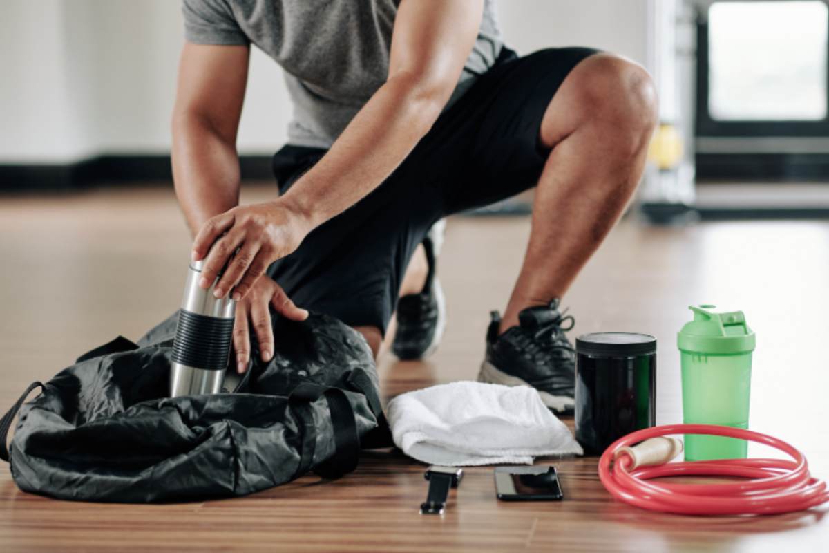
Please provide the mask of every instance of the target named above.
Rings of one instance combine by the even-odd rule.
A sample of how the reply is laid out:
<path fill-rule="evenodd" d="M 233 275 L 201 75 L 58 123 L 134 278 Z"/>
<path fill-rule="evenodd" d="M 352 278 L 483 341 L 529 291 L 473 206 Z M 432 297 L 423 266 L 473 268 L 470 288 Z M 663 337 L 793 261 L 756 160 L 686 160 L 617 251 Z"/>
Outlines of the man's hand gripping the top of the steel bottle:
<path fill-rule="evenodd" d="M 296 250 L 312 228 L 308 216 L 284 198 L 234 207 L 212 217 L 193 242 L 193 260 L 206 255 L 199 285 L 208 288 L 232 256 L 216 284 L 216 298 L 230 289 L 235 300 L 245 298 L 269 264 Z"/>

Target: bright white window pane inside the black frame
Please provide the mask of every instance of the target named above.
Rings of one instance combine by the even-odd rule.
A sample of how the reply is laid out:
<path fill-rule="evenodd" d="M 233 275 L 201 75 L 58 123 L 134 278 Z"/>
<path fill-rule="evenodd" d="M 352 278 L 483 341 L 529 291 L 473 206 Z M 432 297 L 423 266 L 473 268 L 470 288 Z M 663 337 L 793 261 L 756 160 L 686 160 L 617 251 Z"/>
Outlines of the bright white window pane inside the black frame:
<path fill-rule="evenodd" d="M 827 116 L 824 2 L 715 2 L 708 12 L 709 98 L 719 121 Z"/>

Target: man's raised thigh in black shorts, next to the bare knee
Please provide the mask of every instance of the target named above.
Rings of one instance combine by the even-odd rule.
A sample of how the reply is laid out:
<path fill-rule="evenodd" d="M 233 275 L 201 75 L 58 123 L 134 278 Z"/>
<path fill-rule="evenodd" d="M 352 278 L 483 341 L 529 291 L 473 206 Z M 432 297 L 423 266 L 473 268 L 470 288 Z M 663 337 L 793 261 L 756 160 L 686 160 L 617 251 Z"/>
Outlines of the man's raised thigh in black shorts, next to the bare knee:
<path fill-rule="evenodd" d="M 540 141 L 545 110 L 570 71 L 594 53 L 550 48 L 502 56 L 441 114 L 400 167 L 400 177 L 436 187 L 447 214 L 534 187 L 549 153 Z"/>

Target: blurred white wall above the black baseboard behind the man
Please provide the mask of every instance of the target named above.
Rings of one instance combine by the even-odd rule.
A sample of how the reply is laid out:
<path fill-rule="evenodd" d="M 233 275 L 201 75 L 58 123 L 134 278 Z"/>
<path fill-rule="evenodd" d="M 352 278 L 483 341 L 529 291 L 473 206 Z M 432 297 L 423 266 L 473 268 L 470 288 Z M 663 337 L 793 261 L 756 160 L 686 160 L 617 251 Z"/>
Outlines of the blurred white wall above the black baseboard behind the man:
<path fill-rule="evenodd" d="M 644 62 L 648 0 L 501 0 L 521 53 L 584 45 Z M 98 153 L 166 153 L 182 46 L 175 0 L 2 0 L 0 163 L 63 163 Z M 240 153 L 285 141 L 279 68 L 251 57 Z"/>

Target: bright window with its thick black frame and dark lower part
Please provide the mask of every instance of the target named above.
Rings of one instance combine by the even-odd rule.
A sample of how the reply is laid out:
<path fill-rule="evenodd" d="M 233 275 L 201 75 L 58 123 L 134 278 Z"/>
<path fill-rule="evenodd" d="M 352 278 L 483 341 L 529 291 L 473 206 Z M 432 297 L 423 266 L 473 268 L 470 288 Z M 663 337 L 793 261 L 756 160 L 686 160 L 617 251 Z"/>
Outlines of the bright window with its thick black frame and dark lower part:
<path fill-rule="evenodd" d="M 698 181 L 829 181 L 829 0 L 696 6 Z"/>

